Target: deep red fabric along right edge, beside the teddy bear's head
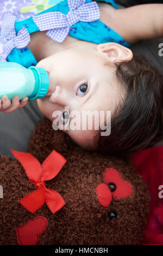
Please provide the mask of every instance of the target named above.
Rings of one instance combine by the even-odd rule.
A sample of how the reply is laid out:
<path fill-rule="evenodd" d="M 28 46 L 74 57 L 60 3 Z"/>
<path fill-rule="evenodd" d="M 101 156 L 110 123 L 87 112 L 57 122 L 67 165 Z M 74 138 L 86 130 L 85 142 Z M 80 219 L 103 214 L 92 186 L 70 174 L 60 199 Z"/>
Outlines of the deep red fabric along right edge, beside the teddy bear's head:
<path fill-rule="evenodd" d="M 163 146 L 134 153 L 131 159 L 135 171 L 147 182 L 151 194 L 143 244 L 163 245 Z"/>

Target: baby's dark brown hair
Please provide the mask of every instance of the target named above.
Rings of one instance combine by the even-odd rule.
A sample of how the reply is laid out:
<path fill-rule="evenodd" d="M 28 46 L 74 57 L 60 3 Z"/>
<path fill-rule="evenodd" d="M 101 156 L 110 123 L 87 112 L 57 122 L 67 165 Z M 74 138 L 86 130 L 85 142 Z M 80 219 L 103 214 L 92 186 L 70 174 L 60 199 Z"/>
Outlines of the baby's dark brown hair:
<path fill-rule="evenodd" d="M 116 78 L 126 94 L 111 118 L 111 134 L 96 136 L 98 150 L 125 155 L 162 138 L 163 76 L 144 57 L 116 63 Z"/>

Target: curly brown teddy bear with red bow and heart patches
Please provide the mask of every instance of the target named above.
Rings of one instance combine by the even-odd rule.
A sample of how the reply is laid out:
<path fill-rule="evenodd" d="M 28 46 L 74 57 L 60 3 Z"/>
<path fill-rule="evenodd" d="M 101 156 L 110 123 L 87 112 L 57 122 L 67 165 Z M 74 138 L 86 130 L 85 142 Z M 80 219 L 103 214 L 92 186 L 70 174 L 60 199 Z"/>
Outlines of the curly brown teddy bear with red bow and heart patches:
<path fill-rule="evenodd" d="M 147 184 L 128 158 L 86 151 L 47 118 L 0 158 L 1 245 L 139 245 Z"/>

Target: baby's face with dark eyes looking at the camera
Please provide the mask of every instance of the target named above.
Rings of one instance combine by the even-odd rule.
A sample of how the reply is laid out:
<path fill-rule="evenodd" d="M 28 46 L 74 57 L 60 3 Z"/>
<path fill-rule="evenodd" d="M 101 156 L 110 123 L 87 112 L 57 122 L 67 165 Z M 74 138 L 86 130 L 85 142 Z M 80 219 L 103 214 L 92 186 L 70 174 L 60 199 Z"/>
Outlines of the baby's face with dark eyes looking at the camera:
<path fill-rule="evenodd" d="M 40 110 L 52 122 L 55 121 L 60 129 L 64 129 L 77 144 L 84 147 L 88 141 L 93 144 L 98 132 L 95 121 L 102 127 L 107 118 L 106 111 L 113 114 L 120 101 L 115 67 L 104 66 L 104 63 L 106 59 L 100 51 L 81 48 L 60 51 L 42 59 L 36 66 L 49 72 L 49 91 L 45 98 L 37 99 Z M 70 118 L 67 118 L 66 109 Z M 58 115 L 56 111 L 59 111 Z M 76 114 L 72 117 L 73 111 Z M 82 118 L 88 113 L 84 111 L 98 113 L 93 118 L 92 129 Z M 105 113 L 101 121 L 99 111 Z"/>

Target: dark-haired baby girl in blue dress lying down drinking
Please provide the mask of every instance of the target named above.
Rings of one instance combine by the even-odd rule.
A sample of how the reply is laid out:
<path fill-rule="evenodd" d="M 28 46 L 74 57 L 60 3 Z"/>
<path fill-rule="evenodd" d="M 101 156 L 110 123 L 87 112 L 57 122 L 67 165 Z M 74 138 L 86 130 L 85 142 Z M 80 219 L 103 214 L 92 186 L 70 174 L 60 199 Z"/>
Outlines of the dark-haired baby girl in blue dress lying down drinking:
<path fill-rule="evenodd" d="M 56 2 L 58 4 L 26 20 L 35 22 L 37 27 L 33 32 L 28 31 L 28 52 L 36 60 L 33 64 L 45 68 L 49 75 L 49 91 L 45 98 L 37 99 L 42 113 L 53 122 L 54 111 L 60 111 L 59 118 L 66 125 L 71 120 L 65 107 L 80 114 L 83 111 L 111 111 L 111 121 L 104 118 L 103 128 L 98 130 L 65 129 L 74 142 L 89 150 L 125 154 L 155 144 L 163 128 L 163 76 L 146 59 L 133 56 L 129 46 L 142 39 L 162 37 L 163 4 L 117 9 L 113 0 L 106 3 L 91 0 Z M 72 10 L 68 13 L 67 8 Z M 55 35 L 52 35 L 53 29 L 41 28 L 41 22 L 36 19 L 48 11 L 51 11 L 49 14 L 52 11 L 58 15 L 63 13 L 64 19 L 65 15 L 71 21 L 74 19 L 72 23 L 68 20 L 70 26 L 66 36 L 59 34 L 64 40 L 58 39 L 57 33 L 65 25 L 54 28 Z M 73 18 L 70 17 L 72 13 Z M 79 16 L 77 20 L 76 16 Z M 21 22 L 17 20 L 15 27 Z M 26 29 L 29 29 L 28 23 Z M 11 50 L 14 55 L 16 47 Z M 12 59 L 11 53 L 5 59 L 18 62 Z M 21 64 L 27 67 L 26 63 Z M 19 100 L 16 96 L 10 102 L 4 96 L 0 99 L 0 109 L 10 113 L 25 106 L 27 101 L 27 97 Z M 111 126 L 110 135 L 101 136 L 101 131 L 108 126 Z"/>

